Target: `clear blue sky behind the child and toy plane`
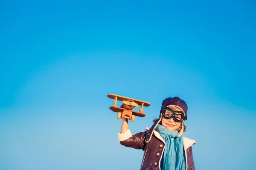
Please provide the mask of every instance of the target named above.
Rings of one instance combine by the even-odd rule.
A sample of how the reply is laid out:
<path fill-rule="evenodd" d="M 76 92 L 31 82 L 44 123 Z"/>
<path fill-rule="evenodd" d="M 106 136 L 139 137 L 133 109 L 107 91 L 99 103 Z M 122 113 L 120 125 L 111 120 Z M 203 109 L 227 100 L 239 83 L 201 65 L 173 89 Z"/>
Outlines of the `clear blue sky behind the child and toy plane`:
<path fill-rule="evenodd" d="M 0 169 L 139 169 L 119 94 L 151 103 L 132 133 L 179 96 L 196 169 L 252 170 L 255 18 L 253 0 L 1 0 Z"/>

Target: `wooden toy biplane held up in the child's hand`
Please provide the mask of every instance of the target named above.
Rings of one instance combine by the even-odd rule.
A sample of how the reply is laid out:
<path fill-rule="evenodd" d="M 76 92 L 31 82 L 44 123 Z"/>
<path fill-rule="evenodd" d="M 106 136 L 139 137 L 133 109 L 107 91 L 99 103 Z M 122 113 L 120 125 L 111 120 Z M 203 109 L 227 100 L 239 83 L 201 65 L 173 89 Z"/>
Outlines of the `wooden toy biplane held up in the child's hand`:
<path fill-rule="evenodd" d="M 111 111 L 117 112 L 117 119 L 127 118 L 134 122 L 135 116 L 144 117 L 145 113 L 142 113 L 143 106 L 150 106 L 149 102 L 145 102 L 142 100 L 132 99 L 125 96 L 119 96 L 116 94 L 108 94 L 108 97 L 114 99 L 113 106 L 110 107 Z M 116 107 L 116 101 L 120 100 L 123 104 L 120 107 Z M 140 111 L 132 111 L 134 107 L 138 107 L 140 105 Z"/>

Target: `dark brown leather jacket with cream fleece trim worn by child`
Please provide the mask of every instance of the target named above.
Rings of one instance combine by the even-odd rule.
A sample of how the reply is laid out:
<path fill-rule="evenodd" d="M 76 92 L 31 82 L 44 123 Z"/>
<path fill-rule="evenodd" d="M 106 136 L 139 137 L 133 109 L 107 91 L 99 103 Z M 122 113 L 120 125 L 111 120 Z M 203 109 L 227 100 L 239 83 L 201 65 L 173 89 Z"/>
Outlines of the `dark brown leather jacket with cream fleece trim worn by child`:
<path fill-rule="evenodd" d="M 118 134 L 120 144 L 126 147 L 144 150 L 144 156 L 140 170 L 160 170 L 160 160 L 163 156 L 165 141 L 153 125 L 147 131 L 140 132 L 135 135 L 131 134 L 130 130 Z M 195 170 L 195 165 L 192 156 L 192 144 L 195 140 L 183 137 L 184 150 L 186 156 L 186 170 Z"/>

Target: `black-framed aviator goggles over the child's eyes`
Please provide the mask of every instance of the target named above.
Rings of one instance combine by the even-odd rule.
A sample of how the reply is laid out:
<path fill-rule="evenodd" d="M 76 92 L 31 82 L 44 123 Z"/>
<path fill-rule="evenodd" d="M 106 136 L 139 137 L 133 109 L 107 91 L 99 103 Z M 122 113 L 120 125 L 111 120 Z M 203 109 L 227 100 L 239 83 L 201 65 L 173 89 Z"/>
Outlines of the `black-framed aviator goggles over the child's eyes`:
<path fill-rule="evenodd" d="M 170 108 L 163 108 L 161 113 L 165 119 L 173 118 L 175 122 L 182 122 L 185 120 L 185 114 L 182 111 L 173 111 Z"/>

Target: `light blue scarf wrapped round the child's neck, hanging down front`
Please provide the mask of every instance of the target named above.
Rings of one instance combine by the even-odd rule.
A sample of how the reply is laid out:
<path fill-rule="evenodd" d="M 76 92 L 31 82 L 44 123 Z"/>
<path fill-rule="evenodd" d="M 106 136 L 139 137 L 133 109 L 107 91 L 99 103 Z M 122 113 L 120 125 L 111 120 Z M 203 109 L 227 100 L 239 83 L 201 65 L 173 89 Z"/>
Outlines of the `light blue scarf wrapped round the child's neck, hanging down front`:
<path fill-rule="evenodd" d="M 161 170 L 185 170 L 186 160 L 183 146 L 183 136 L 176 137 L 178 131 L 168 130 L 162 125 L 155 128 L 166 142 L 161 160 Z"/>

